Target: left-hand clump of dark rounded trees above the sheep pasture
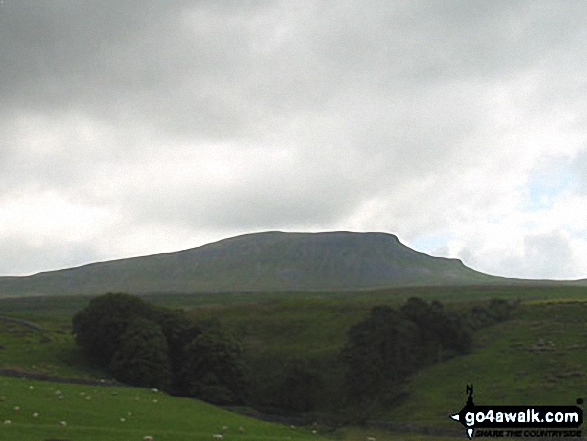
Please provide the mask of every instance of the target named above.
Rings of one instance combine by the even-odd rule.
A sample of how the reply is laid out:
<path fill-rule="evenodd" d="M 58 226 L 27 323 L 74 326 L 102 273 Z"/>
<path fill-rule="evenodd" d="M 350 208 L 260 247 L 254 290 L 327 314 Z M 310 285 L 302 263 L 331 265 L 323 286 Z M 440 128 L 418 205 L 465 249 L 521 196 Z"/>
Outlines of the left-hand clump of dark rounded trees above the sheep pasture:
<path fill-rule="evenodd" d="M 121 382 L 217 404 L 246 401 L 241 346 L 217 323 L 108 293 L 74 316 L 73 333 L 86 356 Z"/>

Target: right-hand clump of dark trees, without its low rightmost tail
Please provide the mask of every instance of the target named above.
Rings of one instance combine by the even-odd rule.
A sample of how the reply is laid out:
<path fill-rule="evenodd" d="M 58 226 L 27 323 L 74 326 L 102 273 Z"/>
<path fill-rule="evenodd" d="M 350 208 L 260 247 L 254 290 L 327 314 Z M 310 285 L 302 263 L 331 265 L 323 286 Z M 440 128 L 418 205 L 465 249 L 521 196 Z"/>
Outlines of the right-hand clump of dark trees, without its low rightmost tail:
<path fill-rule="evenodd" d="M 376 306 L 350 329 L 342 351 L 351 407 L 367 418 L 371 409 L 400 398 L 416 370 L 470 349 L 468 328 L 440 302 L 414 297 L 399 311 Z"/>

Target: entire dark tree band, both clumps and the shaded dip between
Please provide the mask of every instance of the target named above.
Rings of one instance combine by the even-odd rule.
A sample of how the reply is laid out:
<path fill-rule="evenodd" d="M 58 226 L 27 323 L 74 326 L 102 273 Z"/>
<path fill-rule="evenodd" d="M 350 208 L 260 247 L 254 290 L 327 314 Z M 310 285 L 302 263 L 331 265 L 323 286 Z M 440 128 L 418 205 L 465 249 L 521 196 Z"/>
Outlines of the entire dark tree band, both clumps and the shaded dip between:
<path fill-rule="evenodd" d="M 456 314 L 414 297 L 397 309 L 373 307 L 334 357 L 257 359 L 254 366 L 219 323 L 196 322 L 128 294 L 93 299 L 74 316 L 73 332 L 94 364 L 130 385 L 215 404 L 282 413 L 345 409 L 367 418 L 400 399 L 419 369 L 470 352 L 474 330 L 506 320 L 512 308 L 492 300 Z"/>

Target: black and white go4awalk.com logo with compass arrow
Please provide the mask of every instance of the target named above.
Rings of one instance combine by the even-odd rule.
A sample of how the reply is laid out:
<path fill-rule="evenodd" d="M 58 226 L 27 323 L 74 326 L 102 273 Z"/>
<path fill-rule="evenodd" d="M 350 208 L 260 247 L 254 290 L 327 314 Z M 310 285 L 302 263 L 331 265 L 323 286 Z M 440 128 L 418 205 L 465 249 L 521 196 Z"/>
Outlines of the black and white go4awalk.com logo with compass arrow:
<path fill-rule="evenodd" d="M 473 386 L 467 386 L 467 403 L 450 417 L 460 422 L 469 439 L 475 438 L 580 438 L 583 404 L 577 406 L 478 406 Z"/>

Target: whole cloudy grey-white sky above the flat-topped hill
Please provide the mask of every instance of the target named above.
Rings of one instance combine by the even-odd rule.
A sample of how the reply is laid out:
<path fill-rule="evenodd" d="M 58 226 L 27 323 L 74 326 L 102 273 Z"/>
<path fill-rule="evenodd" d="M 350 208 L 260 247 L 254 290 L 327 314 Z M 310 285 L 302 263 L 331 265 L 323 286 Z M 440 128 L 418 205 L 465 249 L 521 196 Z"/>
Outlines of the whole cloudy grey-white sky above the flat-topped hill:
<path fill-rule="evenodd" d="M 4 0 L 0 275 L 381 231 L 587 278 L 587 3 Z"/>

